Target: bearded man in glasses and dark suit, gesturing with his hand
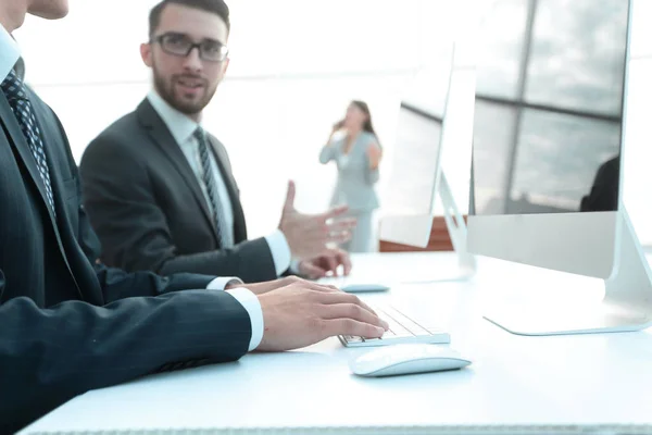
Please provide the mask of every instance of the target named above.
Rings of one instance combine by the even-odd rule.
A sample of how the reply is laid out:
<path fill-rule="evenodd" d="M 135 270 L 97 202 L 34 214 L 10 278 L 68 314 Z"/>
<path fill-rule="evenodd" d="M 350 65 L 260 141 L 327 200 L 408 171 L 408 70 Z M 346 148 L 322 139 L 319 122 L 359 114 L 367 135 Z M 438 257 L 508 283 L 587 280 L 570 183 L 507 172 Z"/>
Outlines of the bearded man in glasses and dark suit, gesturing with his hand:
<path fill-rule="evenodd" d="M 247 239 L 226 149 L 201 126 L 228 65 L 228 33 L 222 1 L 164 1 L 152 10 L 141 54 L 154 89 L 82 159 L 85 206 L 102 260 L 128 271 L 228 274 L 244 282 L 288 272 L 316 278 L 340 264 L 348 273 L 348 253 L 326 245 L 346 241 L 354 221 L 334 220 L 346 208 L 299 213 L 291 183 L 279 228 Z"/>

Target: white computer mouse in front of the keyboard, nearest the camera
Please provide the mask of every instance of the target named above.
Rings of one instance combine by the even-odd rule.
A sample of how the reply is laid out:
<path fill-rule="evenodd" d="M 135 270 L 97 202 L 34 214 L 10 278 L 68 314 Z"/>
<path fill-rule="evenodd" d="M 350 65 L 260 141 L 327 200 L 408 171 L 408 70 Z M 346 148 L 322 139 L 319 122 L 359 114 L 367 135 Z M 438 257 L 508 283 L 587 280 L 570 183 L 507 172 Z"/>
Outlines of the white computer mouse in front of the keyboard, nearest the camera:
<path fill-rule="evenodd" d="M 468 364 L 468 359 L 448 346 L 426 344 L 380 346 L 349 362 L 351 371 L 360 376 L 439 372 Z"/>

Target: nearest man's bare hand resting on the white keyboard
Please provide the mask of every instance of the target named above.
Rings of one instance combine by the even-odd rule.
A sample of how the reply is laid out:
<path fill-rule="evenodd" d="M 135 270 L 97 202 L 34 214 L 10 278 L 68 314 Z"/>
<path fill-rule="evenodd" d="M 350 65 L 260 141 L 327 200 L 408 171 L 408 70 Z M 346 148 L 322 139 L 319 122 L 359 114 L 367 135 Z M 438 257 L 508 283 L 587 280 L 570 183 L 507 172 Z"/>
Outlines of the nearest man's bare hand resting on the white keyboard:
<path fill-rule="evenodd" d="M 258 298 L 265 326 L 258 350 L 297 349 L 338 335 L 378 338 L 389 327 L 356 296 L 299 278 Z"/>

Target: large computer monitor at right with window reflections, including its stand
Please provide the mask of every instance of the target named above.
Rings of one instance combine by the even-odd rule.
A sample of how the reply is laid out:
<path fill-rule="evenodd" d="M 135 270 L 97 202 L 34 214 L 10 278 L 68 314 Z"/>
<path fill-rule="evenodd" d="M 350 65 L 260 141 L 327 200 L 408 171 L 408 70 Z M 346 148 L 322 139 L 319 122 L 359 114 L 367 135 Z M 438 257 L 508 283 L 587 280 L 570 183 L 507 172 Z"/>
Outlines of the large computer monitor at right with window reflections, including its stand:
<path fill-rule="evenodd" d="M 487 313 L 513 333 L 652 325 L 650 268 L 620 195 L 630 11 L 628 0 L 498 0 L 480 28 L 469 251 L 606 288 L 597 306 Z"/>

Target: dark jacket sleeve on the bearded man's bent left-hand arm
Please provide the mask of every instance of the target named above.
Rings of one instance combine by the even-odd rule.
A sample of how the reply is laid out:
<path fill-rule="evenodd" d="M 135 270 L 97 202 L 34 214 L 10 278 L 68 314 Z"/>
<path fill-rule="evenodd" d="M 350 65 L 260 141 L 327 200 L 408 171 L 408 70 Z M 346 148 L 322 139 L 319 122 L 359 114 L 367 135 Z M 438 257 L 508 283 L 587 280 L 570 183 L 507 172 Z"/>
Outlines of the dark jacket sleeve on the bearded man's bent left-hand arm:
<path fill-rule="evenodd" d="M 238 276 L 248 283 L 276 278 L 264 238 L 233 249 L 179 254 L 147 170 L 127 146 L 106 139 L 91 144 L 80 173 L 85 207 L 110 265 L 162 275 Z"/>

